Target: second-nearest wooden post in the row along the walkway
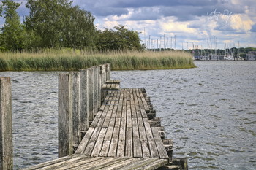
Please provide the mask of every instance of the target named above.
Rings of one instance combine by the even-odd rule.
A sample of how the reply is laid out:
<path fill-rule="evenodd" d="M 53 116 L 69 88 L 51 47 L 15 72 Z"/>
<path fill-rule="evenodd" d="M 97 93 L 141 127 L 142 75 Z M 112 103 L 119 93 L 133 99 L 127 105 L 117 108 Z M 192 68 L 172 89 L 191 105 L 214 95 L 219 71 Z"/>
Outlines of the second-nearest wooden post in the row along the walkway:
<path fill-rule="evenodd" d="M 80 73 L 71 72 L 72 75 L 72 126 L 73 126 L 73 145 L 80 144 Z"/>

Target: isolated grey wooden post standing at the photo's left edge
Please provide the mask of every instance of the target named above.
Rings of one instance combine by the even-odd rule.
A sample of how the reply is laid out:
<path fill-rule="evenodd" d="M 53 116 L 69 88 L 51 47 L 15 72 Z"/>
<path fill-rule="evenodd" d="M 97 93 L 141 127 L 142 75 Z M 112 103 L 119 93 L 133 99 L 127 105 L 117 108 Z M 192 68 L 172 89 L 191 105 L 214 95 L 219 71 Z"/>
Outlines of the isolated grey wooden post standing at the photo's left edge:
<path fill-rule="evenodd" d="M 10 77 L 0 77 L 0 169 L 13 169 Z"/>

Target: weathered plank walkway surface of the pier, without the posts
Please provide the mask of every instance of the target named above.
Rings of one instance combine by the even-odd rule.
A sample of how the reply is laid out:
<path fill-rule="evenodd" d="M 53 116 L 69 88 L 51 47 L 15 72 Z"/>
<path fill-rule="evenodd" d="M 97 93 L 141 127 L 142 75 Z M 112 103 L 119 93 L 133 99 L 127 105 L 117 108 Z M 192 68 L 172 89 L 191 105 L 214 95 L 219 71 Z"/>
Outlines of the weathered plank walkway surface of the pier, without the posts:
<path fill-rule="evenodd" d="M 144 93 L 143 93 L 144 92 Z M 29 169 L 157 169 L 169 162 L 143 89 L 109 91 L 74 155 Z M 117 157 L 117 158 L 116 158 Z"/>

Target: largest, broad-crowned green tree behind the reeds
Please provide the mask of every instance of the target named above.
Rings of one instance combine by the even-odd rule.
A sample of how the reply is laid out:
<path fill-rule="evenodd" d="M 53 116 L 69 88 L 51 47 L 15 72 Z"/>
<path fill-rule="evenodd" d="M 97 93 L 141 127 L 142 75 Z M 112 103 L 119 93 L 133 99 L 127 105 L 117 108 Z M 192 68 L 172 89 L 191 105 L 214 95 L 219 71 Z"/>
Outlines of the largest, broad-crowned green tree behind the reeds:
<path fill-rule="evenodd" d="M 44 47 L 81 48 L 93 45 L 94 16 L 72 7 L 69 0 L 28 0 L 26 27 L 41 37 Z"/>

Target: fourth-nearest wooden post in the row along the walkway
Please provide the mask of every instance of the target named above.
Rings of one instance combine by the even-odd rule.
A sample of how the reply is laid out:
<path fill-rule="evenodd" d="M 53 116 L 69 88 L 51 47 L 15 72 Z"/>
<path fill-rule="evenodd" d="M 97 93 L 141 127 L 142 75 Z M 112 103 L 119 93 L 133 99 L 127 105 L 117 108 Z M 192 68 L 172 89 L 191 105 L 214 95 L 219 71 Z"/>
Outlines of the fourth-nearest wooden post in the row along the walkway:
<path fill-rule="evenodd" d="M 89 68 L 88 92 L 89 92 L 88 117 L 89 117 L 89 124 L 90 124 L 93 120 L 93 115 L 94 115 L 94 67 Z"/>

